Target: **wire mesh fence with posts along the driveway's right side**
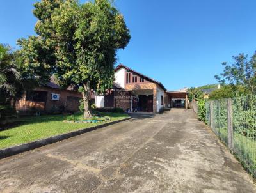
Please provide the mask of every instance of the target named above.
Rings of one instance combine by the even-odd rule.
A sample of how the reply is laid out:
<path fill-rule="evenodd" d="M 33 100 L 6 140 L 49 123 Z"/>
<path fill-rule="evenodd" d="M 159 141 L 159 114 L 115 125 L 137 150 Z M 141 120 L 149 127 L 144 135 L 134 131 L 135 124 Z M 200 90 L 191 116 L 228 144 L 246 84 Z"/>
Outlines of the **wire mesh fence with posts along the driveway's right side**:
<path fill-rule="evenodd" d="M 209 101 L 205 108 L 209 127 L 256 178 L 256 95 Z"/>

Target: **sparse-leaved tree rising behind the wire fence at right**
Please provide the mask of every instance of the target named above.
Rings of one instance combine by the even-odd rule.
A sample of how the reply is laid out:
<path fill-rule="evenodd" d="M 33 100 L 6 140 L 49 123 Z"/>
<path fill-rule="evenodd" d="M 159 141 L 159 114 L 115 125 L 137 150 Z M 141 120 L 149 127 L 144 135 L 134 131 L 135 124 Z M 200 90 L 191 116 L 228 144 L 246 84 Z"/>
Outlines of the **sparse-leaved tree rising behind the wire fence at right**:
<path fill-rule="evenodd" d="M 255 93 L 256 86 L 256 53 L 248 60 L 245 54 L 233 56 L 234 63 L 228 65 L 226 62 L 222 63 L 224 66 L 221 75 L 215 75 L 215 78 L 224 84 L 227 82 L 233 88 L 241 88 L 241 86 L 250 90 L 250 93 Z M 238 86 L 238 87 L 237 87 Z"/>

